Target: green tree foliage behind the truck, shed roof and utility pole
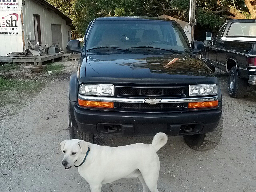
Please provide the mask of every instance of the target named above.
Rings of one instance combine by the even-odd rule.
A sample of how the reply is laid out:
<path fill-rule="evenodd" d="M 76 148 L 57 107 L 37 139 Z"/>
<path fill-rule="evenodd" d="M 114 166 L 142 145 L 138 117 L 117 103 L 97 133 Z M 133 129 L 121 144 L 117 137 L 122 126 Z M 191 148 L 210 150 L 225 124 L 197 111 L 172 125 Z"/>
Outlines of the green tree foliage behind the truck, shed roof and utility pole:
<path fill-rule="evenodd" d="M 159 16 L 188 21 L 189 0 L 47 0 L 73 20 L 82 37 L 91 20 L 102 16 Z M 225 19 L 256 19 L 256 0 L 196 0 L 200 26 L 216 30 Z"/>

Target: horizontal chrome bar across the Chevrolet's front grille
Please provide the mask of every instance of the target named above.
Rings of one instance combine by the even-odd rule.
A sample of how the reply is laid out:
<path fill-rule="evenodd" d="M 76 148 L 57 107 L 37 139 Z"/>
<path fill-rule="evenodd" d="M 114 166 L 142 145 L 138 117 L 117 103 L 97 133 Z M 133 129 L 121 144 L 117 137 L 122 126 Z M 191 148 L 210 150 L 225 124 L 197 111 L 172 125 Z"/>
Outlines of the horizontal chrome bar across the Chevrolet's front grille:
<path fill-rule="evenodd" d="M 102 102 L 118 102 L 118 103 L 145 103 L 145 98 L 114 98 L 114 97 L 98 97 L 78 94 L 78 98 L 88 101 L 102 101 Z M 149 98 L 150 99 L 150 98 Z M 153 98 L 154 99 L 154 98 Z M 177 99 L 157 99 L 157 103 L 188 103 L 188 102 L 203 102 L 216 101 L 218 96 L 210 97 L 194 97 L 194 98 L 177 98 Z"/>

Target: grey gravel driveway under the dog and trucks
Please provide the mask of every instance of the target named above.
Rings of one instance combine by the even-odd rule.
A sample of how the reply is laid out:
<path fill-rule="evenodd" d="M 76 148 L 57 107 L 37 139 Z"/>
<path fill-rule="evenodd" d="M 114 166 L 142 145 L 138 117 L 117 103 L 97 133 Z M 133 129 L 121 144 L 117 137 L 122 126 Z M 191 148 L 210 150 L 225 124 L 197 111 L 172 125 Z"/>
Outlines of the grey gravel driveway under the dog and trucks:
<path fill-rule="evenodd" d="M 76 63 L 72 63 L 74 66 Z M 256 189 L 256 88 L 246 98 L 228 96 L 227 75 L 217 70 L 223 97 L 224 130 L 220 145 L 207 152 L 169 137 L 160 149 L 158 190 L 165 192 L 254 192 Z M 90 192 L 77 168 L 61 164 L 60 142 L 68 138 L 69 75 L 59 75 L 26 105 L 0 118 L 1 192 Z M 2 108 L 2 110 L 5 110 Z M 151 143 L 152 138 L 96 136 L 96 144 Z M 138 179 L 122 179 L 103 192 L 142 192 Z"/>

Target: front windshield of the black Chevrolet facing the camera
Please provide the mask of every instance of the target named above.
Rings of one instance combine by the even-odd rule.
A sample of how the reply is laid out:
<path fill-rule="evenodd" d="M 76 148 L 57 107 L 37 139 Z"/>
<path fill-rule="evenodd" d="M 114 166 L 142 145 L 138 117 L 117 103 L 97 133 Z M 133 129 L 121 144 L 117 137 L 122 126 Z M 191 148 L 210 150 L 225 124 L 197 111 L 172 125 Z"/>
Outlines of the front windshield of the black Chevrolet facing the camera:
<path fill-rule="evenodd" d="M 169 21 L 100 20 L 96 21 L 90 30 L 86 50 L 100 47 L 153 47 L 188 52 L 189 45 L 184 36 L 180 26 Z"/>

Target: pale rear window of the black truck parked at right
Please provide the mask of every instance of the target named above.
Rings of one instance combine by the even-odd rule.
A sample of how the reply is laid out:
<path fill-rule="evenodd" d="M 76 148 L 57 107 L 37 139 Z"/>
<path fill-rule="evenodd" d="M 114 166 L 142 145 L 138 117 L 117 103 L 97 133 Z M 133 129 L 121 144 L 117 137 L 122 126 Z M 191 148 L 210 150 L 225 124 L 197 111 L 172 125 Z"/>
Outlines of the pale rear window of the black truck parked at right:
<path fill-rule="evenodd" d="M 256 36 L 256 22 L 232 23 L 227 36 Z"/>

